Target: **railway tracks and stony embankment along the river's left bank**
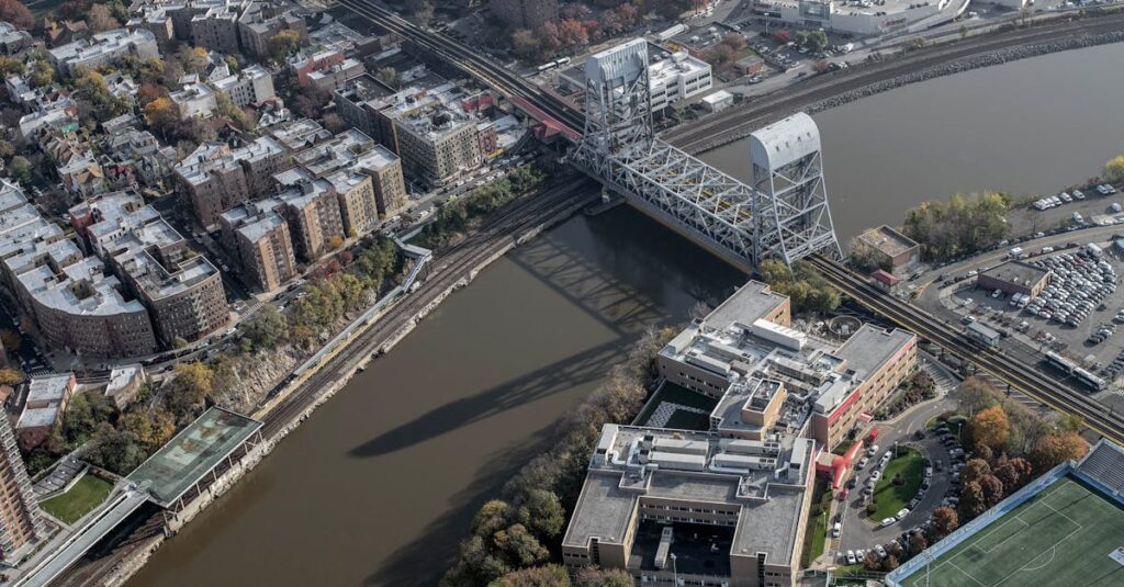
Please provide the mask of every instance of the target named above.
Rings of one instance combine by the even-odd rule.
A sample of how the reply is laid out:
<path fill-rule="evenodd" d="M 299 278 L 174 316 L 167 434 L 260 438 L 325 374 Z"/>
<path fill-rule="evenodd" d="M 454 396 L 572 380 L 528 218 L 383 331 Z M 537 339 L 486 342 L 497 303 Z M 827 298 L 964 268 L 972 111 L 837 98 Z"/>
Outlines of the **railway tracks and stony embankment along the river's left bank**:
<path fill-rule="evenodd" d="M 578 183 L 578 186 L 581 184 Z M 109 586 L 124 585 L 144 567 L 149 558 L 166 543 L 171 535 L 182 530 L 189 522 L 235 487 L 246 473 L 254 470 L 265 457 L 272 453 L 284 437 L 296 431 L 314 412 L 332 399 L 353 377 L 363 371 L 374 356 L 389 351 L 401 342 L 426 316 L 437 309 L 453 292 L 471 283 L 484 268 L 501 259 L 517 246 L 527 243 L 533 236 L 572 217 L 597 197 L 595 191 L 590 191 L 586 196 L 564 198 L 565 189 L 563 187 L 561 193 L 564 199 L 560 200 L 560 190 L 558 187 L 545 191 L 546 193 L 544 195 L 533 197 L 543 199 L 552 198 L 546 200 L 544 205 L 535 205 L 535 201 L 524 202 L 522 200 L 515 205 L 517 208 L 527 208 L 531 213 L 545 211 L 546 214 L 542 219 L 536 219 L 528 224 L 520 222 L 523 220 L 523 216 L 526 215 L 513 215 L 516 219 L 511 225 L 500 226 L 499 228 L 493 227 L 492 229 L 497 234 L 488 240 L 481 240 L 479 246 L 474 247 L 471 253 L 465 252 L 463 249 L 455 250 L 456 247 L 453 247 L 454 250 L 435 258 L 433 261 L 435 272 L 442 270 L 452 271 L 452 273 L 457 274 L 456 278 L 452 280 L 434 278 L 423 285 L 413 295 L 400 298 L 395 304 L 388 306 L 380 315 L 380 319 L 372 320 L 369 326 L 361 328 L 354 334 L 351 344 L 339 345 L 336 353 L 326 356 L 315 369 L 310 370 L 308 378 L 292 383 L 293 387 L 306 389 L 291 390 L 289 394 L 279 394 L 279 396 L 284 395 L 287 401 L 273 403 L 271 404 L 272 409 L 269 413 L 255 414 L 255 416 L 265 421 L 271 428 L 264 442 L 255 446 L 234 468 L 223 471 L 200 495 L 188 503 L 174 518 L 170 520 L 169 535 L 143 536 L 135 543 L 123 548 L 121 551 L 108 557 L 116 560 L 96 561 L 100 562 L 96 565 L 100 568 L 90 574 L 92 576 L 88 575 L 82 580 L 67 583 L 98 583 Z M 554 200 L 560 200 L 561 205 L 546 206 L 554 202 Z M 471 255 L 471 259 L 469 259 L 471 262 L 466 265 L 457 262 L 460 256 L 464 254 Z M 398 316 L 395 314 L 404 310 L 407 311 L 407 316 L 402 324 L 395 324 L 392 325 L 393 327 L 388 328 L 388 323 L 397 322 L 395 318 L 398 318 Z M 372 337 L 370 336 L 371 334 L 375 334 L 375 336 Z M 382 336 L 379 336 L 380 334 Z M 323 377 L 325 373 L 330 376 L 329 382 L 327 385 L 317 385 L 320 381 L 314 378 L 316 376 Z M 312 380 L 311 385 L 310 379 Z M 302 394 L 302 391 L 305 392 Z M 302 403 L 294 404 L 301 398 L 303 399 Z M 298 408 L 293 409 L 294 405 L 298 405 Z M 283 415 L 283 421 L 278 421 L 277 416 L 279 414 Z M 124 552 L 125 550 L 127 552 Z"/>

